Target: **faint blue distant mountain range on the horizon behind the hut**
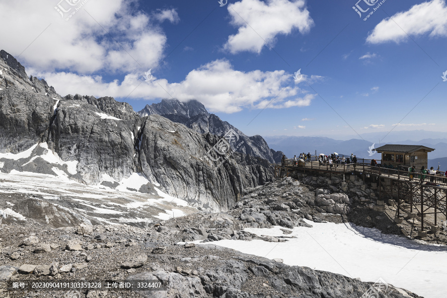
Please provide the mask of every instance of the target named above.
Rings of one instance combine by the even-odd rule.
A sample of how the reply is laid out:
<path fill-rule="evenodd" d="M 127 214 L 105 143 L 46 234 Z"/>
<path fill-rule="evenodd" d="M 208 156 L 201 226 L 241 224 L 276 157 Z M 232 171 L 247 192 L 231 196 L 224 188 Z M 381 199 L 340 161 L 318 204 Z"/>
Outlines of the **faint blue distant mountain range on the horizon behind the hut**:
<path fill-rule="evenodd" d="M 415 131 L 415 134 L 419 131 Z M 407 134 L 406 132 L 405 134 Z M 429 132 L 428 135 L 432 135 Z M 417 135 L 417 134 L 416 134 Z M 441 133 L 443 135 L 443 133 Z M 324 153 L 329 154 L 332 152 L 338 152 L 340 154 L 351 155 L 354 153 L 358 158 L 376 158 L 380 159 L 380 154 L 375 153 L 372 156 L 369 153 L 370 147 L 374 144 L 374 148 L 377 148 L 385 144 L 405 144 L 405 145 L 422 145 L 435 149 L 430 152 L 429 167 L 438 167 L 438 162 L 441 170 L 447 169 L 447 138 L 435 138 L 435 139 L 421 139 L 420 141 L 390 141 L 386 143 L 377 144 L 374 142 L 351 139 L 348 141 L 334 140 L 326 137 L 290 137 L 290 136 L 274 136 L 264 137 L 269 146 L 274 150 L 282 150 L 287 157 L 293 157 L 300 152 L 310 152 L 311 154 Z M 398 140 L 398 139 L 397 139 Z M 401 139 L 402 140 L 402 139 Z"/>

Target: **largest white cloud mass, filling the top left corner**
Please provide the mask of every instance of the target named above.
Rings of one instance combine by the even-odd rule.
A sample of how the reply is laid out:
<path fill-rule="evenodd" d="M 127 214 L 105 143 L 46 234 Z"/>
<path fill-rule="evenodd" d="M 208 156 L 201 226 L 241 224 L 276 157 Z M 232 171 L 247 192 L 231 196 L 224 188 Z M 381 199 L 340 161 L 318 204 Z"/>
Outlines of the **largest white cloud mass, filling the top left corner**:
<path fill-rule="evenodd" d="M 63 18 L 54 8 L 58 1 L 1 1 L 0 26 L 8 29 L 0 31 L 0 40 L 22 64 L 42 72 L 148 70 L 162 59 L 166 36 L 132 2 L 89 0 L 75 11 L 61 1 L 75 11 L 66 21 L 68 13 Z"/>

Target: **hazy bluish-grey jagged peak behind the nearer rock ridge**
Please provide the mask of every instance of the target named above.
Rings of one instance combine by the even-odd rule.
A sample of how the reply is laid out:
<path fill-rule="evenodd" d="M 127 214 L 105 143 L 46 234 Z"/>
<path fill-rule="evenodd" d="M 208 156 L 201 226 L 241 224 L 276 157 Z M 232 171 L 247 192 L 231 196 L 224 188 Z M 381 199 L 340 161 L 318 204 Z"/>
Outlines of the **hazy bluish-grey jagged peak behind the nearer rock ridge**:
<path fill-rule="evenodd" d="M 280 162 L 283 155 L 281 151 L 270 149 L 261 136 L 248 137 L 215 114 L 210 114 L 205 106 L 197 100 L 181 102 L 176 99 L 163 99 L 160 103 L 146 105 L 138 114 L 142 117 L 154 114 L 161 115 L 173 122 L 184 124 L 200 134 L 210 133 L 223 137 L 230 130 L 233 130 L 237 134 L 237 144 L 242 143 L 239 147 L 232 147 L 233 150 L 261 157 L 271 163 Z"/>

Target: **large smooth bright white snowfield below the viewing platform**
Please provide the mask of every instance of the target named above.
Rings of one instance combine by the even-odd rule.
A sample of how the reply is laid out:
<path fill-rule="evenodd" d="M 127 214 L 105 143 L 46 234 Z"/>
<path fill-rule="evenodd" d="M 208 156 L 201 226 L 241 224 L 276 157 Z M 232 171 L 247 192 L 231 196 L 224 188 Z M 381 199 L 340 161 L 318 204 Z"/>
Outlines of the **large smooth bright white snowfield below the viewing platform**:
<path fill-rule="evenodd" d="M 313 227 L 289 229 L 292 233 L 287 236 L 294 238 L 287 242 L 221 240 L 213 244 L 269 259 L 281 258 L 292 266 L 360 277 L 366 282 L 382 278 L 423 297 L 445 297 L 446 246 L 424 245 L 355 224 L 304 221 Z M 281 229 L 284 227 L 245 228 L 257 235 L 284 236 Z"/>

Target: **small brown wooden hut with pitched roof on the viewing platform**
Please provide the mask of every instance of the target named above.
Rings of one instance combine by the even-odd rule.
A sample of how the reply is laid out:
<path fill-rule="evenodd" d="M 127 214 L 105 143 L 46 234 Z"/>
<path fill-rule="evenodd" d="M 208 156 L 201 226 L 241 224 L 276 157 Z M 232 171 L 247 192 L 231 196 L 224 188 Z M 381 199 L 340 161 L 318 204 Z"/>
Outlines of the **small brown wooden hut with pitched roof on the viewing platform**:
<path fill-rule="evenodd" d="M 391 163 L 393 166 L 415 166 L 415 168 L 421 168 L 424 166 L 427 168 L 428 164 L 428 152 L 435 149 L 428 148 L 421 145 L 383 145 L 375 149 L 377 152 L 382 153 L 382 163 Z"/>

